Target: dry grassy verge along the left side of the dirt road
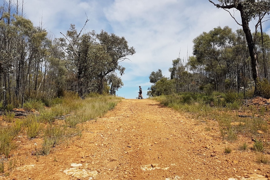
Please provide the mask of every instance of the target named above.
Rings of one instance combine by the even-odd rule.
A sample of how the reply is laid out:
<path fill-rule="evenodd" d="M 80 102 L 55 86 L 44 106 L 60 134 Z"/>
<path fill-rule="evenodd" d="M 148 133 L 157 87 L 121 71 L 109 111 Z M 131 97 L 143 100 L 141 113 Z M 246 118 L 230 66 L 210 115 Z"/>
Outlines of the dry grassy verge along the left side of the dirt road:
<path fill-rule="evenodd" d="M 5 111 L 0 121 L 0 154 L 7 159 L 10 151 L 16 148 L 14 137 L 23 135 L 29 140 L 43 138 L 42 147 L 33 149 L 32 155 L 48 155 L 52 147 L 74 136 L 80 138 L 84 122 L 95 121 L 121 99 L 96 93 L 81 99 L 77 94 L 65 93 L 63 98 L 52 100 L 50 107 L 41 101 L 29 100 L 22 107 L 24 111 L 33 111 L 29 116 L 17 118 L 14 112 Z"/>

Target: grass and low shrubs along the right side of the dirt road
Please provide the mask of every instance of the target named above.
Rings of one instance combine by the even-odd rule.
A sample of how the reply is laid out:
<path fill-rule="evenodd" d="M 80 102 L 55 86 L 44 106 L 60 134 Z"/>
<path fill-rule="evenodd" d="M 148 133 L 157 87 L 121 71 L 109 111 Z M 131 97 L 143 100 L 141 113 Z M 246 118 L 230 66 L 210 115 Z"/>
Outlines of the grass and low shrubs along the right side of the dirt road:
<path fill-rule="evenodd" d="M 221 138 L 225 141 L 236 141 L 238 135 L 251 137 L 253 147 L 250 150 L 257 152 L 257 162 L 269 163 L 263 153 L 270 151 L 269 122 L 270 104 L 262 104 L 261 97 L 252 98 L 252 92 L 243 93 L 178 93 L 151 97 L 176 111 L 190 113 L 198 121 L 217 121 L 220 126 Z M 253 101 L 252 101 L 253 100 Z M 261 105 L 257 105 L 261 104 Z M 207 128 L 207 127 L 206 127 Z M 205 130 L 207 131 L 207 130 Z M 211 129 L 208 127 L 208 131 Z M 247 150 L 244 142 L 236 150 Z M 225 148 L 226 153 L 231 151 Z"/>

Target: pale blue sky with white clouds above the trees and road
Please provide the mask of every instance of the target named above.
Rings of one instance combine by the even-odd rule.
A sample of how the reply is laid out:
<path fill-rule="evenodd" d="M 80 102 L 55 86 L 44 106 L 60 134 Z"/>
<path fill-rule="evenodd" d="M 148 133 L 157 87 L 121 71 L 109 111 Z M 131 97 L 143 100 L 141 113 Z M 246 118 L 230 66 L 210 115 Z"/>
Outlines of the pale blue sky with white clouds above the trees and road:
<path fill-rule="evenodd" d="M 217 1 L 213 1 L 217 3 Z M 116 92 L 126 99 L 138 96 L 139 85 L 143 98 L 151 84 L 151 72 L 162 70 L 170 77 L 172 60 L 181 58 L 186 63 L 192 55 L 193 39 L 213 28 L 229 26 L 240 29 L 230 14 L 217 9 L 208 0 L 24 0 L 23 15 L 34 26 L 42 26 L 54 38 L 63 37 L 70 24 L 78 32 L 89 21 L 83 32 L 103 29 L 125 37 L 136 54 L 120 62 L 126 68 L 121 77 L 124 86 Z M 232 11 L 241 23 L 239 12 Z M 254 24 L 250 23 L 254 30 Z M 263 31 L 270 34 L 270 23 L 263 23 Z"/>

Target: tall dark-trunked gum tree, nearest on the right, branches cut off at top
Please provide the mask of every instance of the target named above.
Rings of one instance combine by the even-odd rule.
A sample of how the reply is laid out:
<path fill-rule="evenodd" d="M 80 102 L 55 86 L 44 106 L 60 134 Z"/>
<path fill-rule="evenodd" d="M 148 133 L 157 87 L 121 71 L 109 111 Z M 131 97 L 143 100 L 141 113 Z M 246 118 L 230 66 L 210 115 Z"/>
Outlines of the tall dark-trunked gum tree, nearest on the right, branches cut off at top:
<path fill-rule="evenodd" d="M 227 9 L 237 9 L 241 15 L 242 23 L 238 23 L 234 16 L 231 17 L 235 19 L 236 23 L 242 26 L 243 31 L 246 36 L 247 46 L 249 50 L 249 55 L 251 58 L 252 65 L 252 77 L 255 82 L 254 96 L 260 95 L 257 89 L 257 84 L 259 81 L 259 68 L 258 68 L 258 57 L 255 47 L 255 42 L 252 38 L 252 33 L 249 28 L 249 22 L 252 18 L 259 18 L 258 23 L 261 22 L 262 18 L 270 12 L 270 1 L 269 0 L 218 0 L 219 3 L 214 3 L 209 0 L 210 3 L 214 4 L 217 8 L 222 8 L 226 11 Z M 229 12 L 229 11 L 228 11 Z"/>

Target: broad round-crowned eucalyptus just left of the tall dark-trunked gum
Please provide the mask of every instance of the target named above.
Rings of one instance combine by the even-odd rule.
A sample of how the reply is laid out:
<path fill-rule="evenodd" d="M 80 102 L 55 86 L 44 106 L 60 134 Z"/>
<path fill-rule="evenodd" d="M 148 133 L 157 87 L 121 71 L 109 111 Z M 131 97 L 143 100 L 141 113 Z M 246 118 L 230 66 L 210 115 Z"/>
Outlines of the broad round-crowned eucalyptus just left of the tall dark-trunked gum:
<path fill-rule="evenodd" d="M 225 80 L 229 77 L 232 82 L 233 56 L 231 47 L 234 43 L 235 35 L 231 28 L 217 27 L 208 33 L 203 32 L 193 40 L 193 54 L 196 60 L 205 64 L 205 70 L 209 73 L 210 82 L 214 83 L 215 90 L 219 90 L 219 85 L 225 91 Z"/>

